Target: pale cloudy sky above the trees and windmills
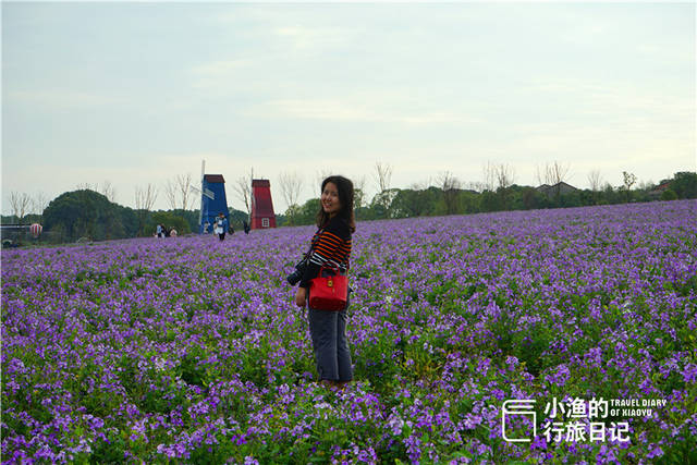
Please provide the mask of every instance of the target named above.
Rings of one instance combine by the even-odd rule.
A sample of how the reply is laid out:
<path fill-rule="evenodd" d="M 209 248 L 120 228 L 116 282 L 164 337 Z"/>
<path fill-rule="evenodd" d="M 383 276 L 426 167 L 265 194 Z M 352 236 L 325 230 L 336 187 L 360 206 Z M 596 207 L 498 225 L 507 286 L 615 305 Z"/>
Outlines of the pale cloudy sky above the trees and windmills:
<path fill-rule="evenodd" d="M 222 174 L 339 173 L 377 192 L 467 186 L 508 166 L 521 185 L 696 171 L 696 7 L 659 3 L 2 2 L 2 212 Z M 194 208 L 197 208 L 195 206 Z"/>

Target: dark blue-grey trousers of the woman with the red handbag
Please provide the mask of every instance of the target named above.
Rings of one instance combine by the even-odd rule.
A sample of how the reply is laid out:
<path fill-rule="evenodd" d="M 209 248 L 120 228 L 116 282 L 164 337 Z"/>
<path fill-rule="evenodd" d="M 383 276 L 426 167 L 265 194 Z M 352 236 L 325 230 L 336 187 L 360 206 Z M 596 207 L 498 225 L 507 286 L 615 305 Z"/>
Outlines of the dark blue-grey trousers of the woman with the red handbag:
<path fill-rule="evenodd" d="M 347 305 L 346 305 L 347 307 Z M 308 309 L 309 335 L 320 380 L 351 381 L 351 352 L 346 341 L 346 310 Z"/>

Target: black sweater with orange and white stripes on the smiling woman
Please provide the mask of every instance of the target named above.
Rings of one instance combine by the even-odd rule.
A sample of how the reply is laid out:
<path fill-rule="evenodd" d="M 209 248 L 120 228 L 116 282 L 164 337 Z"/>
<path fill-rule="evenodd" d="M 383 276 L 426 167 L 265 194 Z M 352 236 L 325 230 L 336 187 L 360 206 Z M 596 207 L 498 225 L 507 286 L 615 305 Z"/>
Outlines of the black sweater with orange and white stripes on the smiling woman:
<path fill-rule="evenodd" d="M 309 281 L 319 276 L 321 267 L 348 271 L 351 256 L 351 229 L 345 220 L 334 217 L 313 236 L 309 260 L 301 279 L 301 287 L 309 287 Z"/>

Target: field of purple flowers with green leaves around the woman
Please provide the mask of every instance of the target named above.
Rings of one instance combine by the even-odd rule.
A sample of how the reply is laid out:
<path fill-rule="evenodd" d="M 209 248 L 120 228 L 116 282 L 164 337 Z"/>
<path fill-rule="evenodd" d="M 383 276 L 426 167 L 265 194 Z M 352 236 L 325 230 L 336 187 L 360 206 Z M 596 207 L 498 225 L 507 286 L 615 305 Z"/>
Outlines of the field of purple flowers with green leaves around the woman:
<path fill-rule="evenodd" d="M 343 392 L 285 282 L 314 228 L 2 250 L 2 462 L 695 463 L 696 218 L 359 222 Z"/>

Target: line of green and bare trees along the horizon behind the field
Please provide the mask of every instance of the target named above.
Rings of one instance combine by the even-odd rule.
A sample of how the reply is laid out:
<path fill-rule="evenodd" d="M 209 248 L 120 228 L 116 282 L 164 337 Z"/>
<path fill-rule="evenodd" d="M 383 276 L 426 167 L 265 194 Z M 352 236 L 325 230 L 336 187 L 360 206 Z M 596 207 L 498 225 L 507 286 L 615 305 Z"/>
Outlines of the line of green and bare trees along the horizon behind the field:
<path fill-rule="evenodd" d="M 599 175 L 589 174 L 590 188 L 577 189 L 564 183 L 567 169 L 552 163 L 538 170 L 537 187 L 515 184 L 514 172 L 504 164 L 485 168 L 485 182 L 470 183 L 464 186 L 452 173 L 443 172 L 437 185 L 413 185 L 409 188 L 390 187 L 392 169 L 388 164 L 376 163 L 376 182 L 378 193 L 367 199 L 365 181 L 355 183 L 355 215 L 359 221 L 413 218 L 424 216 L 470 215 L 489 211 L 528 210 L 542 208 L 580 207 L 591 205 L 612 205 L 631 201 L 672 200 L 678 198 L 697 198 L 697 173 L 677 172 L 673 178 L 662 180 L 659 184 L 636 185 L 636 176 L 623 172 L 623 184 L 601 185 Z M 323 178 L 326 173 L 319 173 Z M 252 178 L 252 173 L 249 175 Z M 173 228 L 179 234 L 198 231 L 198 210 L 188 207 L 191 180 L 178 178 L 181 201 L 178 205 L 175 185 L 172 183 L 168 197 L 170 205 L 178 207 L 169 210 L 152 211 L 151 207 L 157 191 L 148 185 L 136 189 L 136 208 L 124 207 L 109 198 L 109 192 L 99 193 L 89 186 L 61 194 L 48 203 L 42 212 L 26 213 L 30 198 L 26 195 L 12 194 L 14 213 L 3 216 L 3 224 L 30 224 L 39 222 L 44 225 L 44 240 L 63 243 L 80 238 L 93 241 L 151 236 L 157 224 Z M 244 186 L 248 178 L 245 175 L 234 189 L 241 200 L 245 201 L 247 211 L 230 209 L 230 222 L 235 230 L 242 229 L 243 221 L 248 220 L 250 191 Z M 304 225 L 314 224 L 319 211 L 319 198 L 311 198 L 303 205 L 297 204 L 302 183 L 296 174 L 284 174 L 279 180 L 279 187 L 290 207 L 283 215 L 277 215 L 277 224 Z M 42 200 L 45 201 L 45 199 Z M 36 208 L 36 205 L 34 205 Z"/>

